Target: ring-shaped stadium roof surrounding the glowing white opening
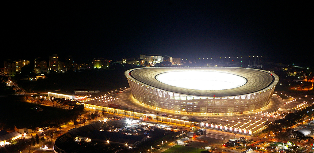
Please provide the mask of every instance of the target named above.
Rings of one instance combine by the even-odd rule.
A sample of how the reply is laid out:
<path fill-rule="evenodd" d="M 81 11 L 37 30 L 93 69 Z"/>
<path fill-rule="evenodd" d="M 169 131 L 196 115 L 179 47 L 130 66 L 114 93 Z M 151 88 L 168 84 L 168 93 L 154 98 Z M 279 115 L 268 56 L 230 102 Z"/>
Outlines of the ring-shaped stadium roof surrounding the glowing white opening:
<path fill-rule="evenodd" d="M 243 85 L 239 85 L 234 88 L 221 90 L 202 90 L 172 86 L 157 80 L 160 74 L 165 74 L 168 72 L 182 73 L 194 71 L 214 72 L 216 75 L 226 74 L 228 76 L 238 76 L 240 78 L 244 78 L 246 82 Z M 185 95 L 214 97 L 255 94 L 273 88 L 279 81 L 279 77 L 272 72 L 240 67 L 145 67 L 128 70 L 125 72 L 125 75 L 129 79 L 147 87 L 154 87 L 157 89 Z M 229 80 L 226 79 L 225 81 L 228 82 L 230 80 L 232 80 L 232 78 L 229 78 Z M 232 84 L 232 82 L 230 82 L 230 84 Z"/>

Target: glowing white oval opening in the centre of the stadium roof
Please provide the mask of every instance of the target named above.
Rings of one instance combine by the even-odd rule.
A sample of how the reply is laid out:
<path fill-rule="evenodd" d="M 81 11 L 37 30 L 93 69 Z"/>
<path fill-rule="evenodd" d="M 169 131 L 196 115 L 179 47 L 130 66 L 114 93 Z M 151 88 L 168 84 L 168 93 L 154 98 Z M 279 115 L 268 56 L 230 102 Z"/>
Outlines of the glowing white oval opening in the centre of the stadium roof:
<path fill-rule="evenodd" d="M 162 83 L 197 90 L 224 90 L 241 87 L 246 79 L 233 74 L 208 71 L 166 72 L 156 76 Z"/>

